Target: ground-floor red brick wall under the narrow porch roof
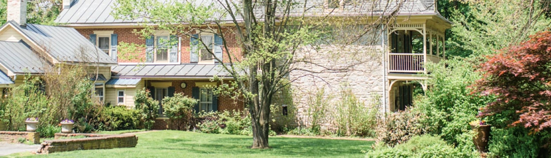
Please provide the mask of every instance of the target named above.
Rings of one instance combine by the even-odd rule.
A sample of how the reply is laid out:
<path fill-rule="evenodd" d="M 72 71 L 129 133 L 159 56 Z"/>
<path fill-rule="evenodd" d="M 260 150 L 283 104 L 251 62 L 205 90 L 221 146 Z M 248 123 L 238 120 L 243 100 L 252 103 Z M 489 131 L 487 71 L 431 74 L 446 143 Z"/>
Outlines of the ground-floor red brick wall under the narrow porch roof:
<path fill-rule="evenodd" d="M 172 87 L 176 88 L 176 93 L 183 93 L 184 96 L 191 96 L 191 88 L 196 87 L 195 82 L 210 82 L 209 80 L 147 80 L 145 87 L 149 87 L 150 82 L 172 82 Z M 181 88 L 180 84 L 186 83 L 186 88 Z M 220 83 L 218 83 L 220 85 Z M 229 96 L 218 97 L 218 110 L 243 110 L 244 103 L 242 99 L 234 100 Z"/>

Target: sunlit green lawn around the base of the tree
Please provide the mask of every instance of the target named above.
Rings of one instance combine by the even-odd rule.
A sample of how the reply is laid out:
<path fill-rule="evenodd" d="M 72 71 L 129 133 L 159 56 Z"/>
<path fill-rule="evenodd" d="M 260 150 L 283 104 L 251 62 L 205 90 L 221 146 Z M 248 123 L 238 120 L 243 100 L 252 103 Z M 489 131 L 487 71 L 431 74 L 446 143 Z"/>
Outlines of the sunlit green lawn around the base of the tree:
<path fill-rule="evenodd" d="M 251 136 L 152 131 L 138 135 L 136 148 L 80 150 L 9 157 L 364 157 L 372 141 L 269 138 L 271 149 L 249 149 Z"/>

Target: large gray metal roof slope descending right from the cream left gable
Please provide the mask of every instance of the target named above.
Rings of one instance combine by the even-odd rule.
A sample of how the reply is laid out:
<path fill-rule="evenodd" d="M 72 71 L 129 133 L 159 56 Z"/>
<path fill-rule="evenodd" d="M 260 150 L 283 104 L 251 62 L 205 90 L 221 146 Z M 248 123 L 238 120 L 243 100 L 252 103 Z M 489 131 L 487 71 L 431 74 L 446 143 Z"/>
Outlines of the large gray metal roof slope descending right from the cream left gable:
<path fill-rule="evenodd" d="M 74 28 L 37 24 L 26 24 L 26 27 L 21 27 L 13 21 L 7 24 L 12 24 L 15 29 L 23 32 L 29 40 L 40 45 L 57 61 L 117 64 Z"/>

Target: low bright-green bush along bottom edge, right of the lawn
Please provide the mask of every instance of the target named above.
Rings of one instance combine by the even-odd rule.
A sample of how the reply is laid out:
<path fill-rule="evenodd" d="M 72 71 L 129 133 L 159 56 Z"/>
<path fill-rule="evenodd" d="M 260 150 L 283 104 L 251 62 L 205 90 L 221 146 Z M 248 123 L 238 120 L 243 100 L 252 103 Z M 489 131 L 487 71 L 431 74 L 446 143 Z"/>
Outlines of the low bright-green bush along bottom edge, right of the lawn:
<path fill-rule="evenodd" d="M 477 153 L 463 153 L 437 136 L 422 135 L 413 136 L 394 148 L 380 146 L 368 152 L 366 157 L 477 157 Z"/>

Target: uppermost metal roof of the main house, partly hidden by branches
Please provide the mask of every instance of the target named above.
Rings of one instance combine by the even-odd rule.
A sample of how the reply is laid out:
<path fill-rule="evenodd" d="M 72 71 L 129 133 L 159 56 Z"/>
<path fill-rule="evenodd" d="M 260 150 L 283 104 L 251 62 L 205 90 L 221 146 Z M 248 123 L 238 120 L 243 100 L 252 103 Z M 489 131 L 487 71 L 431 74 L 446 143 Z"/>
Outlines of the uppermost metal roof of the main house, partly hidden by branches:
<path fill-rule="evenodd" d="M 164 0 L 158 0 L 164 1 Z M 234 0 L 239 1 L 239 0 Z M 331 12 L 331 9 L 325 7 L 327 0 L 313 0 L 306 1 L 306 8 L 309 10 L 306 15 L 315 16 L 323 15 Z M 165 1 L 166 2 L 166 1 Z M 212 0 L 198 0 L 193 1 L 195 3 L 208 4 L 213 3 Z M 301 2 L 299 2 L 301 3 Z M 215 6 L 218 2 L 214 1 Z M 115 7 L 116 0 L 78 0 L 73 3 L 69 8 L 65 8 L 61 11 L 55 20 L 56 23 L 66 24 L 101 24 L 101 23 L 138 23 L 144 22 L 143 19 L 134 20 L 115 20 L 111 16 L 112 7 Z M 298 4 L 298 6 L 304 6 L 304 4 Z M 401 6 L 401 7 L 398 7 Z M 354 14 L 354 15 L 380 15 L 390 14 L 396 9 L 399 15 L 415 15 L 415 14 L 439 14 L 434 7 L 434 0 L 380 0 L 374 2 L 366 2 L 362 4 L 354 4 L 354 6 L 345 6 L 347 13 L 343 12 L 331 12 L 332 15 L 339 14 Z M 284 9 L 280 7 L 279 9 Z M 255 9 L 257 17 L 262 17 L 262 6 Z M 290 11 L 291 15 L 301 15 L 303 8 L 294 7 Z M 283 12 L 283 10 L 278 10 Z M 229 17 L 222 17 L 221 19 L 230 20 Z M 238 16 L 237 20 L 241 18 Z"/>

